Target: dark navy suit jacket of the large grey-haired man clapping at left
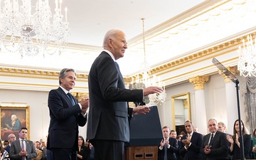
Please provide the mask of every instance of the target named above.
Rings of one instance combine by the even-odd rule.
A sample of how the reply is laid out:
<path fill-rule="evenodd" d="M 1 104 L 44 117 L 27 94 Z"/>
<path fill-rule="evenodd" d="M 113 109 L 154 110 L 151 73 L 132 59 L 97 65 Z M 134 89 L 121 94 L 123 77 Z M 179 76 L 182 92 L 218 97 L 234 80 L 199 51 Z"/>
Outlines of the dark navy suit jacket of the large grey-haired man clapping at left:
<path fill-rule="evenodd" d="M 73 97 L 75 105 L 70 102 L 63 89 L 50 90 L 48 107 L 50 110 L 50 126 L 47 149 L 65 148 L 78 151 L 78 125 L 85 126 L 87 118 L 81 114 L 78 100 Z"/>

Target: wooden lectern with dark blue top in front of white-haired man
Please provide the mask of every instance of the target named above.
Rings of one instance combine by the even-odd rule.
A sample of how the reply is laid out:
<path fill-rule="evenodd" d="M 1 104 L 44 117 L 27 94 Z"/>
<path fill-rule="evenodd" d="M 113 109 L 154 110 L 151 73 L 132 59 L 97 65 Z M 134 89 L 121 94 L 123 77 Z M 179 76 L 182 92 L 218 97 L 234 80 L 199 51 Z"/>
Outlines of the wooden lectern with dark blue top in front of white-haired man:
<path fill-rule="evenodd" d="M 156 106 L 150 107 L 147 114 L 132 117 L 130 122 L 130 142 L 125 148 L 126 160 L 157 160 L 158 147 L 163 134 L 159 112 Z"/>

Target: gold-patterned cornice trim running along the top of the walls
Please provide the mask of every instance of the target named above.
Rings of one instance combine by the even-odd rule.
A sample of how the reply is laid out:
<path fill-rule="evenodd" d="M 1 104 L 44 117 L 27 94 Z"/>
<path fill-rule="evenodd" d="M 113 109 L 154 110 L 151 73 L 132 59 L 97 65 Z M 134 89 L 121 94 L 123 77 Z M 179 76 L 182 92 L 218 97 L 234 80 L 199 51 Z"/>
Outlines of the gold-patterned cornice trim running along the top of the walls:
<path fill-rule="evenodd" d="M 247 35 L 255 36 L 255 28 L 252 28 L 251 33 L 240 33 L 242 36 L 237 36 L 235 38 L 229 38 L 227 40 L 220 40 L 224 43 L 216 42 L 215 45 L 206 46 L 204 50 L 198 51 L 193 54 L 188 54 L 183 58 L 176 58 L 175 60 L 170 60 L 169 63 L 164 65 L 159 65 L 158 67 L 152 68 L 151 75 L 164 75 L 171 72 L 171 70 L 177 70 L 179 68 L 187 67 L 188 65 L 193 65 L 200 61 L 213 58 L 217 55 L 223 55 L 225 53 L 238 50 L 238 46 L 242 43 L 242 39 L 245 39 Z M 218 44 L 219 43 L 219 44 Z M 43 79 L 56 79 L 58 80 L 59 72 L 43 71 L 43 70 L 25 70 L 17 68 L 0 68 L 0 75 L 9 76 L 9 77 L 21 77 L 21 78 L 43 78 Z M 139 75 L 139 78 L 142 78 L 142 75 L 139 73 L 137 75 L 131 75 L 129 77 L 124 77 L 124 82 L 132 82 L 132 78 L 136 79 Z M 78 74 L 78 81 L 88 82 L 88 74 Z"/>

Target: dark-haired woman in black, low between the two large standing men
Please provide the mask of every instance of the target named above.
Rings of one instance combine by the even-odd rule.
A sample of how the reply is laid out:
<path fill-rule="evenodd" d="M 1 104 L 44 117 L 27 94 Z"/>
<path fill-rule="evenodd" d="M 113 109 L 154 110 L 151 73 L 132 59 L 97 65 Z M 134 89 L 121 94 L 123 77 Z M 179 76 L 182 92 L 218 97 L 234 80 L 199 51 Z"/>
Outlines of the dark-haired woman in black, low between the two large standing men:
<path fill-rule="evenodd" d="M 78 160 L 87 160 L 90 156 L 90 149 L 85 146 L 85 139 L 78 136 Z"/>

